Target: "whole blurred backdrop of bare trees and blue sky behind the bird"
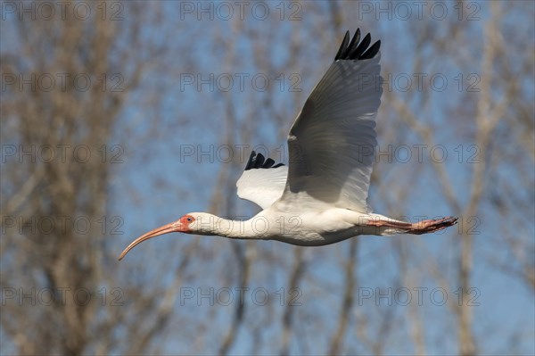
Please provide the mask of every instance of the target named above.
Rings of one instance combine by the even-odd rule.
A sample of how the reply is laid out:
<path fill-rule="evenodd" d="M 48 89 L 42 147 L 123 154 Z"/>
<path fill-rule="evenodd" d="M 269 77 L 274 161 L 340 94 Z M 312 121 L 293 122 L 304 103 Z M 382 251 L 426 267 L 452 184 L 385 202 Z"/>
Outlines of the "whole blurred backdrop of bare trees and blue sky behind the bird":
<path fill-rule="evenodd" d="M 40 3 L 24 4 L 3 5 L 1 25 L 2 354 L 533 352 L 533 3 L 445 3 L 443 19 L 431 5 L 406 19 L 395 3 L 266 3 L 264 19 L 251 4 L 227 18 L 231 3 L 79 2 L 93 16 L 33 20 Z M 457 230 L 319 249 L 162 238 L 115 261 L 135 236 L 113 229 L 196 209 L 251 216 L 235 196 L 243 157 L 206 153 L 264 144 L 284 161 L 292 118 L 357 26 L 383 41 L 370 204 L 455 213 Z M 210 80 L 221 73 L 230 90 Z"/>

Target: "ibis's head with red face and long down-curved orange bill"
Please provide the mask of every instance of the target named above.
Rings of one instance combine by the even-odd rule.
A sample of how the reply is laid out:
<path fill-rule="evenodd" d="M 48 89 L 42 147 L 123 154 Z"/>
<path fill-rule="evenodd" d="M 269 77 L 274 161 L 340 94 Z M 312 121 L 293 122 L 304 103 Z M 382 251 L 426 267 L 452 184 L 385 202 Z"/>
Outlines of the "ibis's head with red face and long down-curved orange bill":
<path fill-rule="evenodd" d="M 146 234 L 137 237 L 136 240 L 134 240 L 131 244 L 128 244 L 128 247 L 122 253 L 120 253 L 119 261 L 122 260 L 130 250 L 136 247 L 136 245 L 141 244 L 145 240 L 148 240 L 152 237 L 161 236 L 172 232 L 210 235 L 211 231 L 213 231 L 215 221 L 214 218 L 217 217 L 207 214 L 206 212 L 190 212 L 185 214 L 180 219 L 177 219 L 177 221 L 170 222 L 169 224 L 163 225 L 160 228 L 154 228 Z"/>

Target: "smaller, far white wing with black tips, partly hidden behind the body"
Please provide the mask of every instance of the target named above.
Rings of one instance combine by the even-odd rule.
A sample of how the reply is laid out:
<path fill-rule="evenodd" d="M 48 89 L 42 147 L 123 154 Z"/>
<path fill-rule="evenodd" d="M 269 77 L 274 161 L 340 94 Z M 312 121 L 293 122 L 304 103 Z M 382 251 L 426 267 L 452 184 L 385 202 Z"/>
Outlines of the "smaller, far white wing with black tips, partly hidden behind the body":
<path fill-rule="evenodd" d="M 251 152 L 242 177 L 236 182 L 238 196 L 256 203 L 262 209 L 268 209 L 283 195 L 288 167 L 283 163 L 275 164 L 261 153 Z"/>

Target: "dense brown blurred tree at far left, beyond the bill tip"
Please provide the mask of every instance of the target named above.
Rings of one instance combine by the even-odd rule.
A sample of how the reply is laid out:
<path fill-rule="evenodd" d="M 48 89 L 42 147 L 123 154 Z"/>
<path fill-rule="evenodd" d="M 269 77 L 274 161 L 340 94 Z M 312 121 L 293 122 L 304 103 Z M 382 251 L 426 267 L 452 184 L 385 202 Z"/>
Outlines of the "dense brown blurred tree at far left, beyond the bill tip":
<path fill-rule="evenodd" d="M 152 300 L 161 294 L 136 290 L 133 319 L 119 308 L 128 287 L 114 287 L 109 237 L 124 219 L 109 206 L 113 163 L 125 155 L 109 143 L 152 57 L 168 50 L 143 39 L 161 10 L 65 4 L 52 17 L 51 3 L 2 8 L 1 325 L 11 341 L 2 353 L 6 345 L 19 354 L 142 352 L 155 329 L 139 323 L 158 316 Z M 17 296 L 7 302 L 9 293 Z M 136 341 L 117 346 L 131 334 Z"/>

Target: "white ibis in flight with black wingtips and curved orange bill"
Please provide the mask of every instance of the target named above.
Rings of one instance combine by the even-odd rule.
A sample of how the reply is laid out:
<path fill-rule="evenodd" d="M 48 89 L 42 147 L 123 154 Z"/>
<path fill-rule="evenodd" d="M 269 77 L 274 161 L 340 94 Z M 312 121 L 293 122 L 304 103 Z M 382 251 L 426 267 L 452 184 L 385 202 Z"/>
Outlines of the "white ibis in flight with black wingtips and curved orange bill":
<path fill-rule="evenodd" d="M 171 232 L 238 239 L 276 240 L 301 246 L 334 244 L 358 235 L 427 234 L 457 218 L 416 223 L 376 214 L 366 203 L 377 145 L 375 116 L 383 89 L 381 41 L 360 41 L 360 30 L 342 46 L 293 122 L 287 166 L 251 153 L 236 186 L 240 198 L 261 208 L 248 220 L 190 212 L 138 237 L 137 244 Z"/>

